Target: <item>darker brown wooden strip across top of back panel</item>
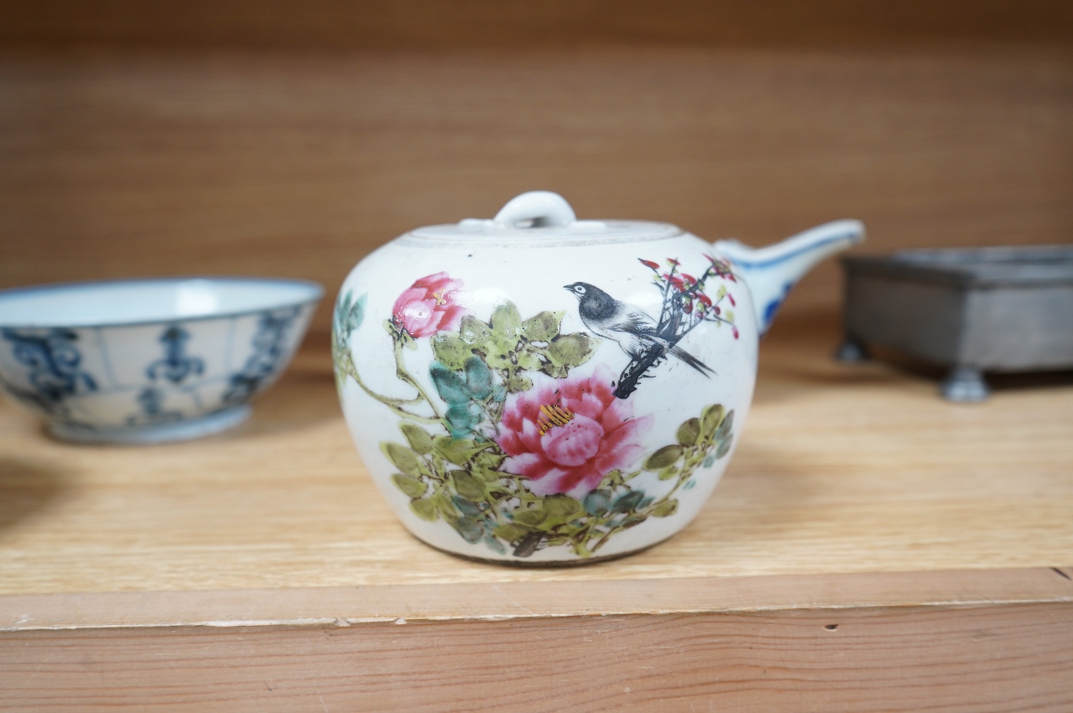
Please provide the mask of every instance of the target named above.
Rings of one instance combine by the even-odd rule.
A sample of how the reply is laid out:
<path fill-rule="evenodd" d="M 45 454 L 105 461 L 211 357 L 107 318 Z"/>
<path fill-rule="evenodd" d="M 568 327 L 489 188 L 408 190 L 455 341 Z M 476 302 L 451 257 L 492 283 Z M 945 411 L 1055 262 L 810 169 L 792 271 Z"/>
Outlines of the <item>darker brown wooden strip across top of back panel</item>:
<path fill-rule="evenodd" d="M 0 40 L 182 47 L 352 49 L 372 46 L 571 46 L 577 43 L 1069 45 L 1073 19 L 1054 0 L 52 0 L 8 2 Z"/>

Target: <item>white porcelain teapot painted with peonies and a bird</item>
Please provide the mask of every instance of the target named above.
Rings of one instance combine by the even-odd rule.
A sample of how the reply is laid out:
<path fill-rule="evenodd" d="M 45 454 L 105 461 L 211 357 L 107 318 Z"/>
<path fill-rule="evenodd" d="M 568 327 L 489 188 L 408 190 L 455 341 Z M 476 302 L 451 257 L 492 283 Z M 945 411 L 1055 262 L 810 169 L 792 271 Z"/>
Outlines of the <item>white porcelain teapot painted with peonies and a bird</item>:
<path fill-rule="evenodd" d="M 594 562 L 685 528 L 745 426 L 756 345 L 790 287 L 863 239 L 827 223 L 751 250 L 521 194 L 407 233 L 336 302 L 362 459 L 399 520 L 477 560 Z"/>

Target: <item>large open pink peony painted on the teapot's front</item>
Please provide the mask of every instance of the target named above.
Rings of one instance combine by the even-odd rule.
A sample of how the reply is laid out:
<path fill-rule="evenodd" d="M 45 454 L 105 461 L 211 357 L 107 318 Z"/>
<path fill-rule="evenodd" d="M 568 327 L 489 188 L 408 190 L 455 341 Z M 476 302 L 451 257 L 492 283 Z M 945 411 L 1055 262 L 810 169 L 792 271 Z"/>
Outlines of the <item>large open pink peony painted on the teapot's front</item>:
<path fill-rule="evenodd" d="M 615 398 L 614 377 L 601 365 L 591 376 L 543 378 L 508 397 L 496 439 L 509 457 L 503 470 L 527 477 L 538 495 L 583 497 L 633 462 L 651 416 L 632 418 L 632 404 Z"/>

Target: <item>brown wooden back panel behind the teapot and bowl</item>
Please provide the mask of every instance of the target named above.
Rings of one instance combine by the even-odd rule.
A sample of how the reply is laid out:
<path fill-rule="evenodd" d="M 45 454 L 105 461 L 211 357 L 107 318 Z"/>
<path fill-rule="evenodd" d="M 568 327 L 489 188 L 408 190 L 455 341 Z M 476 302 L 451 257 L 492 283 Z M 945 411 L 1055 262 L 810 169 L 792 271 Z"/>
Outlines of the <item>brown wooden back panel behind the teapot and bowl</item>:
<path fill-rule="evenodd" d="M 1070 8 L 6 1 L 0 287 L 330 299 L 392 237 L 531 189 L 753 244 L 843 217 L 867 252 L 1069 241 Z M 788 310 L 838 300 L 829 263 Z"/>

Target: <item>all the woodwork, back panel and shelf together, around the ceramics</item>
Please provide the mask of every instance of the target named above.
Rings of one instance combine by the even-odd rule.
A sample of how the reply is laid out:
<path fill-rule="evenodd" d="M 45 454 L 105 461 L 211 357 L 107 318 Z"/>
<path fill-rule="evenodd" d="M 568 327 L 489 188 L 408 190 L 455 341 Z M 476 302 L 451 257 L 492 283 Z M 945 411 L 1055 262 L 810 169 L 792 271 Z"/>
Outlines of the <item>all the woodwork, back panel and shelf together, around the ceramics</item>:
<path fill-rule="evenodd" d="M 532 189 L 754 244 L 843 217 L 864 252 L 1069 242 L 1073 3 L 0 0 L 0 287 L 275 274 L 330 299 L 392 237 Z M 832 261 L 764 341 L 702 517 L 582 569 L 402 531 L 324 308 L 216 439 L 76 447 L 0 407 L 0 700 L 1071 710 L 1069 374 L 951 404 L 934 374 L 833 363 L 838 306 Z"/>

